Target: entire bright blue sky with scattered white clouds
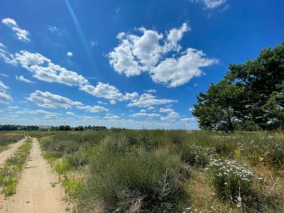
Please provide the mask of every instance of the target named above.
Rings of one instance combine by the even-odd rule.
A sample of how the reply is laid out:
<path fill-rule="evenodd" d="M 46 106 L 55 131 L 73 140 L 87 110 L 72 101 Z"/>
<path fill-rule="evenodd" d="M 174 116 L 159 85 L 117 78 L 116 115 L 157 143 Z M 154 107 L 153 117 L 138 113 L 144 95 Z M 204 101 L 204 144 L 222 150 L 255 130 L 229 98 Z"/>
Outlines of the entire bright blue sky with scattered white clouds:
<path fill-rule="evenodd" d="M 283 1 L 4 1 L 0 124 L 197 129 L 231 62 L 283 41 Z"/>

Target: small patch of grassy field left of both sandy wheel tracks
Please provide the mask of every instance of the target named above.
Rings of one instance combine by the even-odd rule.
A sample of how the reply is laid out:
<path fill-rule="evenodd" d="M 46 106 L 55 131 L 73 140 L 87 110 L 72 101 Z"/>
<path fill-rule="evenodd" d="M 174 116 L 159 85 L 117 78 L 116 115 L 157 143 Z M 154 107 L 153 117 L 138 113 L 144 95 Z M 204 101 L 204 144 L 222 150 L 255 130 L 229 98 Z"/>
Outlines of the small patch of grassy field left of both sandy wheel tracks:
<path fill-rule="evenodd" d="M 23 138 L 23 131 L 0 131 L 0 152 Z"/>

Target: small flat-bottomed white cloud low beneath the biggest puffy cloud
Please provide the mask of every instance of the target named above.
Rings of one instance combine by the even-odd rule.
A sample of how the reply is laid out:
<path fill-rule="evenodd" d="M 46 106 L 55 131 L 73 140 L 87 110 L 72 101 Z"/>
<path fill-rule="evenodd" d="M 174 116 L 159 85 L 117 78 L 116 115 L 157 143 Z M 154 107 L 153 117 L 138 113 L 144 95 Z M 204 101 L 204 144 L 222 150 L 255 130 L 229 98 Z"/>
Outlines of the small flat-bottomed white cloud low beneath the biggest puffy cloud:
<path fill-rule="evenodd" d="M 153 94 L 144 93 L 138 99 L 134 99 L 127 106 L 129 107 L 151 107 L 154 105 L 169 104 L 178 102 L 172 99 L 157 99 Z"/>

